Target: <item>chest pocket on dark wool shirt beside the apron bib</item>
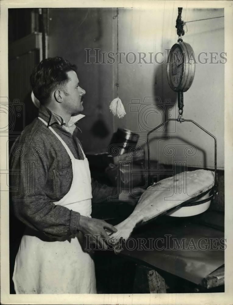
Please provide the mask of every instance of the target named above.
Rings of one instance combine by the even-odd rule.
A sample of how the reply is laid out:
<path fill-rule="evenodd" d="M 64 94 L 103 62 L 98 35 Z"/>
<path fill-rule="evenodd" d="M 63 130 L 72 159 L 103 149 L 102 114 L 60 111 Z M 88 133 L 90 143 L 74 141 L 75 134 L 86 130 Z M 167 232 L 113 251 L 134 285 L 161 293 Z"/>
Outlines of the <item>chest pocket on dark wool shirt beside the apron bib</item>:
<path fill-rule="evenodd" d="M 72 164 L 65 168 L 56 168 L 53 170 L 55 179 L 56 199 L 61 199 L 68 192 L 72 184 Z"/>

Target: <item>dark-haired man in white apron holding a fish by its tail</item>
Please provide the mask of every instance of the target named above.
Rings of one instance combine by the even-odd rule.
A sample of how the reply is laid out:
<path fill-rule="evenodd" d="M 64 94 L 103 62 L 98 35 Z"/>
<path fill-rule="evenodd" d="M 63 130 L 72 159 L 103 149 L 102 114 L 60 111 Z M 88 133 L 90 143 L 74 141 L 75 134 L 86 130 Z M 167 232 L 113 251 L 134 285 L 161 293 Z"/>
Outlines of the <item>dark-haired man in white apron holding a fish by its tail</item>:
<path fill-rule="evenodd" d="M 85 94 L 76 69 L 60 57 L 44 59 L 34 69 L 31 85 L 41 102 L 39 114 L 11 149 L 13 208 L 27 226 L 15 261 L 16 293 L 96 293 L 84 236 L 104 247 L 105 230 L 117 231 L 90 217 L 91 199 L 104 201 L 117 190 L 90 177 L 75 125 L 83 117 Z"/>

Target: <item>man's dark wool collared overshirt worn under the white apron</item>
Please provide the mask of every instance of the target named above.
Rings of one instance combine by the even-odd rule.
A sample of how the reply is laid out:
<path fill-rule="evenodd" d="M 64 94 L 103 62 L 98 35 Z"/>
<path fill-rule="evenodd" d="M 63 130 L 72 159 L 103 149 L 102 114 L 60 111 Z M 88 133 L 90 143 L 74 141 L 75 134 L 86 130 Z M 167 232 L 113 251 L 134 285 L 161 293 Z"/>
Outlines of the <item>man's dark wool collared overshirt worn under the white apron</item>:
<path fill-rule="evenodd" d="M 77 128 L 73 134 L 67 132 L 44 106 L 39 109 L 39 117 L 56 131 L 76 159 L 84 159 L 76 136 Z M 80 214 L 54 202 L 71 187 L 72 163 L 48 126 L 38 118 L 34 119 L 12 145 L 9 156 L 12 204 L 16 217 L 28 227 L 49 236 L 69 236 L 77 232 Z M 117 193 L 116 188 L 93 179 L 91 186 L 93 203 L 106 201 L 108 196 Z"/>

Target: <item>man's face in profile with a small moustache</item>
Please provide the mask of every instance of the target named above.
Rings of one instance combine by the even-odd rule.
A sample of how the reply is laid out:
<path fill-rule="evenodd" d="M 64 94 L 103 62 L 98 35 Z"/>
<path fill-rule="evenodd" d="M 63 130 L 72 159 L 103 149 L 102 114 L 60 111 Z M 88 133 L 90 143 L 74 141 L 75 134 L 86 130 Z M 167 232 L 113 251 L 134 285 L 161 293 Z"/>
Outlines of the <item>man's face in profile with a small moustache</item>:
<path fill-rule="evenodd" d="M 82 97 L 86 91 L 79 86 L 79 79 L 75 71 L 72 70 L 66 73 L 69 77 L 69 81 L 65 88 L 68 95 L 64 96 L 64 106 L 66 110 L 69 110 L 71 115 L 75 115 L 83 111 Z"/>

